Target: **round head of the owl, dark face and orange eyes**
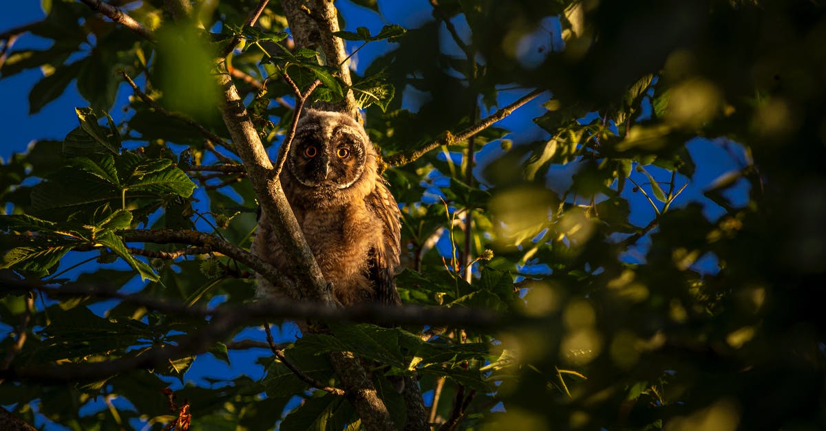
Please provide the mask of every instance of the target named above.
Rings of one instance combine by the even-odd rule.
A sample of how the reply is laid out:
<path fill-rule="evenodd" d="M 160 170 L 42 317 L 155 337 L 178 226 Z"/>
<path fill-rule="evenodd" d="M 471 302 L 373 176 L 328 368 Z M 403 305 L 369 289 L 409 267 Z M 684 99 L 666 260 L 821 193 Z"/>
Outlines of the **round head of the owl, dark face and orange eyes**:
<path fill-rule="evenodd" d="M 367 196 L 376 166 L 376 149 L 358 122 L 340 112 L 308 110 L 298 121 L 286 170 L 302 197 L 315 201 Z"/>

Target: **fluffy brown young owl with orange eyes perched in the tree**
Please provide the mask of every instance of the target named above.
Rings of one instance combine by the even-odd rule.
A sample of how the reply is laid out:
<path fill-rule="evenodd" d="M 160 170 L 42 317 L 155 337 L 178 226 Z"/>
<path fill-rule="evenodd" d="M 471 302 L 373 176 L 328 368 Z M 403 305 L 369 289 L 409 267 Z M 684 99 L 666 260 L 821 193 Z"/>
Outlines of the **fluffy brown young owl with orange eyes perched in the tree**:
<path fill-rule="evenodd" d="M 298 121 L 280 177 L 304 238 L 342 305 L 400 304 L 401 212 L 377 172 L 377 153 L 363 127 L 339 112 L 307 110 Z M 287 253 L 262 213 L 253 253 L 294 283 Z M 259 296 L 287 296 L 258 277 Z"/>

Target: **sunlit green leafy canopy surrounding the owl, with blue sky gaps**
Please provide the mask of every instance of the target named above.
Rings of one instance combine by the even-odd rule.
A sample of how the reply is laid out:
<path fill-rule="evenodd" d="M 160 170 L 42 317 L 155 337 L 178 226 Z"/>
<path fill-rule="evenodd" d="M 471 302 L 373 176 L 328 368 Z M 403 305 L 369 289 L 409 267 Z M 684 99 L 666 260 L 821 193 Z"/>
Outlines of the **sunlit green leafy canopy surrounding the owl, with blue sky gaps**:
<path fill-rule="evenodd" d="M 415 28 L 330 35 L 350 53 L 386 44 L 351 79 L 295 45 L 291 2 L 255 26 L 253 0 L 188 16 L 110 2 L 150 39 L 83 3 L 44 1 L 20 30 L 46 50 L 0 42 L 0 78 L 45 73 L 32 113 L 71 83 L 88 101 L 63 141 L 0 164 L 0 405 L 30 424 L 180 428 L 187 400 L 192 429 L 358 429 L 348 397 L 302 378 L 342 386 L 322 353 L 352 352 L 399 428 L 410 402 L 384 376 L 416 376 L 443 429 L 826 427 L 818 2 L 431 2 Z M 318 85 L 308 102 L 352 94 L 402 208 L 402 300 L 498 320 L 334 319 L 273 356 L 247 328 L 285 315 L 243 315 L 261 197 L 214 108 L 216 73 L 273 159 L 292 84 Z M 145 95 L 116 114 L 125 77 Z M 455 138 L 534 89 L 541 132 Z M 704 176 L 720 157 L 735 168 Z M 187 382 L 193 363 L 249 348 L 262 378 Z"/>

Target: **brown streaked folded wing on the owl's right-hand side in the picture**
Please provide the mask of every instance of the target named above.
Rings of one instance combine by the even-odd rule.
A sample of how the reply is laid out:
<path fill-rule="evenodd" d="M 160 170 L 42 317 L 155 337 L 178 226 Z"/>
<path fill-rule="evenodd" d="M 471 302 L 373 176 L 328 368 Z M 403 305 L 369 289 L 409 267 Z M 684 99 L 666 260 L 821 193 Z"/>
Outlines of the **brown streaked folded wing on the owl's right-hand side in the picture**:
<path fill-rule="evenodd" d="M 378 178 L 376 187 L 364 202 L 382 224 L 382 244 L 368 254 L 368 278 L 376 289 L 375 301 L 399 305 L 401 299 L 393 275 L 399 267 L 401 253 L 401 211 L 383 178 Z"/>

